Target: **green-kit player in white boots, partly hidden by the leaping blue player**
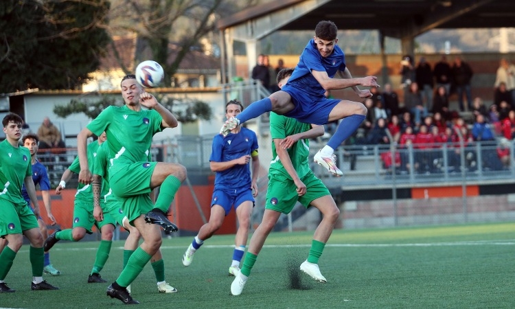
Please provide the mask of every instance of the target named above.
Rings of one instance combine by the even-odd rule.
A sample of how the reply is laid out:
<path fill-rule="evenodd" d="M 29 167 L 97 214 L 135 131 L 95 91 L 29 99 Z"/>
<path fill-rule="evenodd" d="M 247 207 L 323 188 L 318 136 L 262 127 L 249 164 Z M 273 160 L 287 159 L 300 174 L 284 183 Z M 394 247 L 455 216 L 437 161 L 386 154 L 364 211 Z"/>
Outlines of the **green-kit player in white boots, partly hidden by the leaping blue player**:
<path fill-rule="evenodd" d="M 277 74 L 277 84 L 284 87 L 292 69 L 282 69 Z M 231 284 L 231 294 L 240 295 L 252 267 L 268 234 L 281 214 L 289 214 L 297 201 L 306 208 L 317 207 L 323 219 L 314 231 L 308 259 L 300 270 L 318 282 L 327 282 L 320 273 L 318 262 L 338 220 L 340 211 L 327 187 L 314 176 L 308 163 L 309 139 L 323 135 L 323 126 L 310 128 L 296 119 L 270 113 L 270 134 L 273 160 L 268 170 L 266 205 L 260 226 L 255 230 L 241 271 Z"/>

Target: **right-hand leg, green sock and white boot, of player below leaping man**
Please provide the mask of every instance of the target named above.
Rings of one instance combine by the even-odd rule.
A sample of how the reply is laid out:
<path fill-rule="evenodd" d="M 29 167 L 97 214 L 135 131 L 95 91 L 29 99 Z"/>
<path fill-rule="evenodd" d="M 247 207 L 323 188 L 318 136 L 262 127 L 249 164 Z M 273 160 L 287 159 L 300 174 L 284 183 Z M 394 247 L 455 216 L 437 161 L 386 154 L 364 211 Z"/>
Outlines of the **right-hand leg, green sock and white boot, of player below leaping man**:
<path fill-rule="evenodd" d="M 320 273 L 318 263 L 325 247 L 325 243 L 328 242 L 332 230 L 334 229 L 334 225 L 339 218 L 340 211 L 338 207 L 336 207 L 336 203 L 334 203 L 334 200 L 330 195 L 315 199 L 311 202 L 311 205 L 320 210 L 323 218 L 317 229 L 314 231 L 308 259 L 301 264 L 300 270 L 307 273 L 318 282 L 327 282 L 327 279 L 325 279 L 325 277 Z"/>

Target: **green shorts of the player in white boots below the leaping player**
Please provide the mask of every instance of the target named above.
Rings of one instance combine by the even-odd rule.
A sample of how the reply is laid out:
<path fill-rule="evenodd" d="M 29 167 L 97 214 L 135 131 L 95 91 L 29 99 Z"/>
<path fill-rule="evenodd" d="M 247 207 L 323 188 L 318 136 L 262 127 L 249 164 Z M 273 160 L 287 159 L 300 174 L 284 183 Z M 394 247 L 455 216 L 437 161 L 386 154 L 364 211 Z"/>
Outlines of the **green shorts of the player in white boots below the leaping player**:
<path fill-rule="evenodd" d="M 289 214 L 297 201 L 308 208 L 317 198 L 331 195 L 328 188 L 312 172 L 302 177 L 301 181 L 306 185 L 306 194 L 303 196 L 297 194 L 297 186 L 293 180 L 283 174 L 268 174 L 265 209 Z"/>

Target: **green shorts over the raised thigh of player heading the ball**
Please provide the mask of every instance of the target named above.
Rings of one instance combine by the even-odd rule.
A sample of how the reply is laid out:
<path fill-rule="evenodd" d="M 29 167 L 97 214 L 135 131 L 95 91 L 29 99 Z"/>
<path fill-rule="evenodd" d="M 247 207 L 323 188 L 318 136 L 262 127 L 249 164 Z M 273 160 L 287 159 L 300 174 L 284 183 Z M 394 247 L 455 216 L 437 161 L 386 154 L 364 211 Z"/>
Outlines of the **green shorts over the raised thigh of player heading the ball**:
<path fill-rule="evenodd" d="M 157 162 L 136 162 L 136 163 L 117 163 L 113 165 L 109 172 L 109 184 L 111 191 L 117 197 L 126 198 L 139 194 L 149 194 L 150 179 Z"/>

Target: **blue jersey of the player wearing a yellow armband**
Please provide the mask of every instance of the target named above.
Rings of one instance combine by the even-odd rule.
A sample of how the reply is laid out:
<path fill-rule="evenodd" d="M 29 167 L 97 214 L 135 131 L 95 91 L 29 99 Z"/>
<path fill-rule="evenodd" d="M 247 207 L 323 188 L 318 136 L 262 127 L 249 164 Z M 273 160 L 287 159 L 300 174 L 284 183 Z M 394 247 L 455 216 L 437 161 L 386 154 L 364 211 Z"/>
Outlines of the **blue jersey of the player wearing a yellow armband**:
<path fill-rule="evenodd" d="M 213 139 L 211 157 L 209 161 L 227 162 L 251 155 L 251 152 L 258 149 L 258 137 L 248 128 L 241 128 L 240 133 L 229 133 L 226 137 L 217 134 Z M 240 187 L 251 187 L 251 170 L 249 163 L 245 165 L 234 165 L 232 168 L 216 172 L 215 190 L 236 189 Z"/>

